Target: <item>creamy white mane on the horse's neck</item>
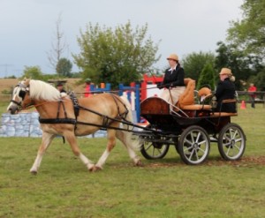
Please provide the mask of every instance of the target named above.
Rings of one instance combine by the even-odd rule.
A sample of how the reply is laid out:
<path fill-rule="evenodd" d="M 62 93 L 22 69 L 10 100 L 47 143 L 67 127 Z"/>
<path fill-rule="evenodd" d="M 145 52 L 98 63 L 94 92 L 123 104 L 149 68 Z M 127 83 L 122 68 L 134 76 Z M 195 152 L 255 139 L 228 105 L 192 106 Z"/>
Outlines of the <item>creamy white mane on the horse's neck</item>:
<path fill-rule="evenodd" d="M 61 97 L 57 88 L 41 80 L 30 79 L 29 88 L 30 97 L 36 100 L 58 101 Z"/>

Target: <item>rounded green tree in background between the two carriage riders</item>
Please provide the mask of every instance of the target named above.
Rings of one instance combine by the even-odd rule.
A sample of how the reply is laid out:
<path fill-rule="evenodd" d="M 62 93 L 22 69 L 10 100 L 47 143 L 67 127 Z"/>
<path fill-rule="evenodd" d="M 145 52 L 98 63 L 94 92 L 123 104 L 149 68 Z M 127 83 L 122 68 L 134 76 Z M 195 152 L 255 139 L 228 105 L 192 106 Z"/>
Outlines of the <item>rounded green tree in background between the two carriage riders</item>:
<path fill-rule="evenodd" d="M 185 56 L 182 61 L 182 64 L 185 70 L 185 76 L 198 81 L 200 77 L 200 72 L 202 71 L 205 64 L 212 64 L 214 66 L 215 55 L 211 52 L 193 52 Z"/>

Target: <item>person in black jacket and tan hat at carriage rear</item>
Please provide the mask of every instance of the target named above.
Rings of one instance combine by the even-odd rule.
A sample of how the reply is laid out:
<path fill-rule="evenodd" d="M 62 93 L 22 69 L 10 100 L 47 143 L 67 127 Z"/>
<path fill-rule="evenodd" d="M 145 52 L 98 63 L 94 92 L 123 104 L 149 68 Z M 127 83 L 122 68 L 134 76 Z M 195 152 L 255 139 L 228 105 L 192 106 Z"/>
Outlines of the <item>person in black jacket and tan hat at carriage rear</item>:
<path fill-rule="evenodd" d="M 217 107 L 215 111 L 222 112 L 237 112 L 236 102 L 222 102 L 223 100 L 235 99 L 236 88 L 234 85 L 235 77 L 228 68 L 223 68 L 220 73 L 220 81 L 216 87 Z"/>

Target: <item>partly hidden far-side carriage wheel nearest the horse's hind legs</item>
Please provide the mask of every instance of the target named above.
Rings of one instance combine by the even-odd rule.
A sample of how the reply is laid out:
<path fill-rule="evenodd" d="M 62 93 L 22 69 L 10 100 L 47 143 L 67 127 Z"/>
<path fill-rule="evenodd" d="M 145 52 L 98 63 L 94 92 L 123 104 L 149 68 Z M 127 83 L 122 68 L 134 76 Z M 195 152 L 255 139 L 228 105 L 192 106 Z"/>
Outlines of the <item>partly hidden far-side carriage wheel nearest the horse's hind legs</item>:
<path fill-rule="evenodd" d="M 162 159 L 168 153 L 170 148 L 169 144 L 162 144 L 150 141 L 144 141 L 140 148 L 140 153 L 146 159 Z"/>

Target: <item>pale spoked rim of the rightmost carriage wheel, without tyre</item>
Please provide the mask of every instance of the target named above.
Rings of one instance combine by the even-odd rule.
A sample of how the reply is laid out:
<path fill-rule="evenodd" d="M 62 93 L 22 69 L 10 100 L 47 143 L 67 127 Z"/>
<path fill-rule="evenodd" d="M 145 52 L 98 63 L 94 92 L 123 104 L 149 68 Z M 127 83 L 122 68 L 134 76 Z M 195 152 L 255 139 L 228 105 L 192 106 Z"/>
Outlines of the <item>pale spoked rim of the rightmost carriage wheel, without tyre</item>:
<path fill-rule="evenodd" d="M 245 137 L 243 132 L 234 126 L 227 129 L 221 137 L 223 154 L 231 160 L 238 159 L 245 148 Z"/>

